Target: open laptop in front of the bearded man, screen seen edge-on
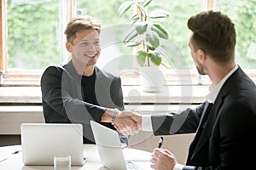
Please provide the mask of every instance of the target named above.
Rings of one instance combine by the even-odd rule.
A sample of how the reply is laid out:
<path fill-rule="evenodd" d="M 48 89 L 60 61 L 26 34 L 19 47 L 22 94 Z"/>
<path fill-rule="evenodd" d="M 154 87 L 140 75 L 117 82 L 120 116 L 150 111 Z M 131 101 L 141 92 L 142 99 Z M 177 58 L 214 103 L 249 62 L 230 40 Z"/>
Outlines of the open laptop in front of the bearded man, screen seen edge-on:
<path fill-rule="evenodd" d="M 94 121 L 90 121 L 90 125 L 104 167 L 111 170 L 151 169 L 151 153 L 143 150 L 122 149 L 119 134 L 116 131 Z"/>

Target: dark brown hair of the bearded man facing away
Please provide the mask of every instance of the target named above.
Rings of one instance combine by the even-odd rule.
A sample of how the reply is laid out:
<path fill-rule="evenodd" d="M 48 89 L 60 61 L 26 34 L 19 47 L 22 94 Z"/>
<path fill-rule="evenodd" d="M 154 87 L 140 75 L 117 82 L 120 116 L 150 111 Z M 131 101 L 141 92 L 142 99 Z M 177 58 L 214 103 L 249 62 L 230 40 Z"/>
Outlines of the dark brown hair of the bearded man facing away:
<path fill-rule="evenodd" d="M 193 31 L 191 42 L 219 64 L 234 60 L 236 30 L 230 18 L 220 12 L 201 12 L 189 18 L 187 23 Z"/>

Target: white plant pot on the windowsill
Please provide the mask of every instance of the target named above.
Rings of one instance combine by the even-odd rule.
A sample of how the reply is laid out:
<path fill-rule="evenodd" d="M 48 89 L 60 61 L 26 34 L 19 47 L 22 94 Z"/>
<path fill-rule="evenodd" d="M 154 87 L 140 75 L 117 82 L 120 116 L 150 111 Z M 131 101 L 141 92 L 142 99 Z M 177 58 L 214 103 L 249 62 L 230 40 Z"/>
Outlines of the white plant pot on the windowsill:
<path fill-rule="evenodd" d="M 160 67 L 145 66 L 140 67 L 140 79 L 144 92 L 156 93 L 160 92 L 165 82 L 165 77 Z"/>

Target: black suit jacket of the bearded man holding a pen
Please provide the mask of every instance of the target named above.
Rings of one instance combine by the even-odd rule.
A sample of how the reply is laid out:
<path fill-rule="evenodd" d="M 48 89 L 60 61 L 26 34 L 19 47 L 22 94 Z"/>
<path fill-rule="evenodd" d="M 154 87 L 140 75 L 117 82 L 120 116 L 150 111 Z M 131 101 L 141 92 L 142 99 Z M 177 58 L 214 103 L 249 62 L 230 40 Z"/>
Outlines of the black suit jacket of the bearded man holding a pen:
<path fill-rule="evenodd" d="M 176 115 L 152 116 L 155 135 L 196 133 L 183 169 L 247 169 L 256 162 L 256 87 L 239 67 L 221 88 L 206 123 L 207 102 Z"/>

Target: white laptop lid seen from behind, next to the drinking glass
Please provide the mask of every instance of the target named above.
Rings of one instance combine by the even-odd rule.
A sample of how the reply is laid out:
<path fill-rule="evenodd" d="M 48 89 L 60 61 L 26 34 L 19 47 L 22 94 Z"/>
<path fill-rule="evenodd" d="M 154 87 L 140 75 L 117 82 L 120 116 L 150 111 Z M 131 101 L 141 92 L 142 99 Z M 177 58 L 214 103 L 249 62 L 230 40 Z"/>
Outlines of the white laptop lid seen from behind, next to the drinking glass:
<path fill-rule="evenodd" d="M 22 123 L 20 131 L 25 165 L 54 165 L 57 155 L 70 155 L 72 165 L 84 164 L 81 124 Z"/>

